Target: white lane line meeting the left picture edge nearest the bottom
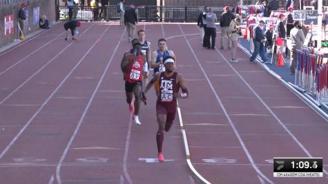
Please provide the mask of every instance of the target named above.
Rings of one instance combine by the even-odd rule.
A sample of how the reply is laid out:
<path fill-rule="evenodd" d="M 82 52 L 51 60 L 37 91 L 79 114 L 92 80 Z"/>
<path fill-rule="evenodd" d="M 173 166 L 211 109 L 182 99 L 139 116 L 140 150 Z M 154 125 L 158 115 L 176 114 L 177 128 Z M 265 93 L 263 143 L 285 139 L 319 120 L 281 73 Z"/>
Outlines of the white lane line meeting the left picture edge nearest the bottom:
<path fill-rule="evenodd" d="M 95 42 L 97 43 L 97 42 Z M 21 130 L 19 130 L 18 134 L 15 136 L 14 139 L 12 139 L 12 141 L 10 141 L 10 143 L 7 145 L 7 147 L 5 148 L 5 150 L 3 150 L 0 154 L 0 160 L 3 158 L 3 156 L 8 152 L 8 150 L 10 149 L 10 147 L 12 147 L 12 145 L 17 141 L 17 139 L 19 139 L 19 136 L 21 136 L 21 134 L 23 134 L 23 132 L 26 130 L 26 128 L 28 127 L 28 125 L 30 125 L 30 123 L 35 119 L 35 117 L 41 112 L 41 110 L 46 106 L 46 104 L 48 103 L 48 101 L 50 101 L 50 99 L 52 99 L 52 96 L 55 95 L 55 93 L 59 90 L 59 88 L 61 88 L 61 85 L 63 85 L 66 80 L 68 79 L 68 77 L 77 69 L 77 67 L 81 64 L 81 62 L 84 60 L 84 58 L 86 57 L 86 55 L 93 49 L 94 45 L 91 46 L 91 48 L 89 48 L 89 50 L 84 54 L 84 56 L 79 60 L 79 62 L 75 65 L 75 67 L 70 70 L 70 72 L 67 74 L 67 76 L 65 77 L 65 79 L 63 81 L 61 81 L 61 83 L 57 86 L 57 88 L 50 94 L 50 96 L 48 96 L 48 99 L 46 99 L 46 101 L 44 101 L 44 103 L 41 105 L 41 107 L 37 110 L 37 112 L 35 112 L 35 114 L 33 114 L 33 116 L 28 120 L 28 122 L 21 128 Z"/>

